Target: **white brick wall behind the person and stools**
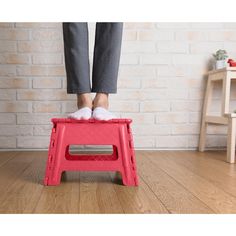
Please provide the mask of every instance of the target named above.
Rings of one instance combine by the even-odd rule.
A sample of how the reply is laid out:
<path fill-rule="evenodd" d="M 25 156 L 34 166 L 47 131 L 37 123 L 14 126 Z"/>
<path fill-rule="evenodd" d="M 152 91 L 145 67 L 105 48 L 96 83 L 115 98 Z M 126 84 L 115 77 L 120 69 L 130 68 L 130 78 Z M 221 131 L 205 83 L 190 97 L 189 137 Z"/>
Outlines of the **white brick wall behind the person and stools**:
<path fill-rule="evenodd" d="M 211 54 L 236 59 L 236 23 L 125 23 L 118 94 L 110 109 L 133 119 L 139 148 L 196 148 Z M 89 24 L 92 61 L 95 23 Z M 92 64 L 92 63 L 91 63 Z M 236 85 L 231 109 L 236 109 Z M 219 112 L 216 86 L 211 112 Z M 61 23 L 0 23 L 0 148 L 47 148 L 52 117 L 76 109 L 66 94 Z M 209 126 L 207 146 L 225 147 Z"/>

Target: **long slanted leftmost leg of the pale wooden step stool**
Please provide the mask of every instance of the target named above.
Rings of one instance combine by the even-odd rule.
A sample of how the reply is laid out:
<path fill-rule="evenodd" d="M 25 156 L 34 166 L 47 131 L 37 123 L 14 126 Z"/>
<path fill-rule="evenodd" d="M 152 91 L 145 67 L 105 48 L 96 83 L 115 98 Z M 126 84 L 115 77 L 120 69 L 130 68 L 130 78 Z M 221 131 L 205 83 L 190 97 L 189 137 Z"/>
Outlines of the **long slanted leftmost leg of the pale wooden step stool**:
<path fill-rule="evenodd" d="M 213 81 L 211 80 L 211 75 L 209 75 L 208 80 L 207 80 L 206 94 L 204 98 L 203 111 L 202 111 L 201 129 L 200 129 L 200 137 L 199 137 L 199 151 L 200 152 L 203 152 L 205 150 L 206 131 L 207 131 L 206 115 L 209 111 L 209 107 L 211 104 L 212 91 L 213 91 Z"/>

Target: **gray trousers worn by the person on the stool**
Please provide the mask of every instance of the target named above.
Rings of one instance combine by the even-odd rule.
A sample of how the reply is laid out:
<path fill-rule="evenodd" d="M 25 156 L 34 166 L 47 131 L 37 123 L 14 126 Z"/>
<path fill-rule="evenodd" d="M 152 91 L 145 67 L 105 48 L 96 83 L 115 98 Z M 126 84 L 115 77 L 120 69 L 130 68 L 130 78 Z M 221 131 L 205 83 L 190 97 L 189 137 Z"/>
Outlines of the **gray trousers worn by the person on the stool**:
<path fill-rule="evenodd" d="M 116 93 L 123 23 L 96 23 L 92 87 L 88 24 L 63 22 L 67 93 Z"/>

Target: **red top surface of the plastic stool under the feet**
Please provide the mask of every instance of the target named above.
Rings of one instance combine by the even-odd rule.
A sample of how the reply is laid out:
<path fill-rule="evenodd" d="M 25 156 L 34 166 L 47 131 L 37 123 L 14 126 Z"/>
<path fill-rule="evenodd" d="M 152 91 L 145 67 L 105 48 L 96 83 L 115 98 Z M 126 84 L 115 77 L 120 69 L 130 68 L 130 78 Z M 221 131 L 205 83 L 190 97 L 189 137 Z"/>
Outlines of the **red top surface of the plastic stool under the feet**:
<path fill-rule="evenodd" d="M 119 118 L 119 119 L 111 119 L 111 120 L 96 120 L 96 119 L 88 119 L 88 120 L 76 120 L 71 118 L 52 118 L 51 121 L 53 123 L 126 123 L 130 124 L 132 119 L 129 118 Z"/>

